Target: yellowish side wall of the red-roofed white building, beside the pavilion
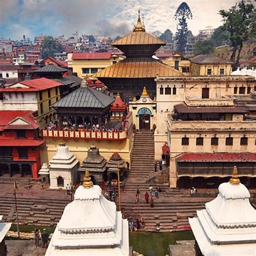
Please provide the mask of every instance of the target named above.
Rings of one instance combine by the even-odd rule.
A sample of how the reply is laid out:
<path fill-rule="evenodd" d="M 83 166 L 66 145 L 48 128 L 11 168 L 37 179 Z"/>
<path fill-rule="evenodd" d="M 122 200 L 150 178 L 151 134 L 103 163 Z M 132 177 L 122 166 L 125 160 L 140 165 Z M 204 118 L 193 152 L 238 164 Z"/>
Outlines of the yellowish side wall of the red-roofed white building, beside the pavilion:
<path fill-rule="evenodd" d="M 56 93 L 56 87 L 53 87 L 49 89 L 51 91 L 51 97 L 48 97 L 48 90 L 42 91 L 42 100 L 40 100 L 39 92 L 37 92 L 37 104 L 38 104 L 38 116 L 37 116 L 37 122 L 40 125 L 40 128 L 44 128 L 46 125 L 45 117 L 50 116 L 50 114 L 53 114 L 53 112 L 56 112 L 56 110 L 50 108 L 49 106 L 49 100 L 51 100 L 51 104 L 56 103 L 57 98 L 60 99 L 60 92 L 59 92 L 59 86 L 57 87 L 57 93 Z M 41 112 L 41 103 L 43 103 L 43 112 Z M 53 120 L 53 118 L 52 118 Z"/>

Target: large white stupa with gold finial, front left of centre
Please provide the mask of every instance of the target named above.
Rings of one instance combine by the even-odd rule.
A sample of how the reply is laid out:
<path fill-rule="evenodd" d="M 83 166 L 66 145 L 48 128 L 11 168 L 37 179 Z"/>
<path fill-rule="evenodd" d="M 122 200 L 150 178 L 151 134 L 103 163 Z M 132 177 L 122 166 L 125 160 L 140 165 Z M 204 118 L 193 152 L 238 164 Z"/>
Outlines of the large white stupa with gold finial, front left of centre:
<path fill-rule="evenodd" d="M 129 255 L 128 221 L 89 175 L 86 170 L 84 183 L 65 207 L 45 255 Z"/>

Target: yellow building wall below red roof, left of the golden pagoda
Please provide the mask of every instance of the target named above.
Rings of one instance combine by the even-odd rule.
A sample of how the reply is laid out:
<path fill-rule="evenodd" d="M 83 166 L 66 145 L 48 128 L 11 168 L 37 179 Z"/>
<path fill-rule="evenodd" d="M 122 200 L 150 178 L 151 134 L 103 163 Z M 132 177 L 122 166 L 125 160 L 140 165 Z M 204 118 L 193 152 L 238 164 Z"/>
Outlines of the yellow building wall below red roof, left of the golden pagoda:
<path fill-rule="evenodd" d="M 122 59 L 124 59 L 122 56 L 113 56 L 110 59 L 73 59 L 73 73 L 77 73 L 77 76 L 80 78 L 85 78 L 87 76 L 93 75 L 93 73 L 91 73 L 92 68 L 97 68 L 98 71 L 100 71 L 114 64 L 114 62 L 119 62 Z M 90 72 L 83 73 L 83 68 L 89 69 Z"/>

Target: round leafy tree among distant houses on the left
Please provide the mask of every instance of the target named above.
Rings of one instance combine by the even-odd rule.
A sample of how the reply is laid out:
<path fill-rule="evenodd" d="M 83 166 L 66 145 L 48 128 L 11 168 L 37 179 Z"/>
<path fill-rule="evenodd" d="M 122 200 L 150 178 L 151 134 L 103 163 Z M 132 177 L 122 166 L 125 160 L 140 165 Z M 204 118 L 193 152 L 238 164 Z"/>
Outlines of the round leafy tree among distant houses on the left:
<path fill-rule="evenodd" d="M 54 53 L 63 51 L 62 45 L 58 44 L 52 36 L 47 36 L 40 46 L 42 58 L 54 57 Z"/>

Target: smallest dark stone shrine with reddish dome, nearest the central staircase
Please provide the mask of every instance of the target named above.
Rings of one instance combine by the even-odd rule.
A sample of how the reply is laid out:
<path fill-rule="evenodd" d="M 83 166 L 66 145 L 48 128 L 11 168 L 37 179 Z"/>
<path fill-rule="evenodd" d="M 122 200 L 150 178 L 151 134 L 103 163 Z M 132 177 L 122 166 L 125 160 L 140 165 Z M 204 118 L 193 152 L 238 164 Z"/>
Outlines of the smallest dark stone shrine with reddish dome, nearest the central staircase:
<path fill-rule="evenodd" d="M 119 165 L 119 175 L 120 181 L 123 181 L 127 178 L 128 173 L 127 169 L 125 168 L 126 162 L 117 152 L 114 152 L 110 157 L 110 160 L 107 161 L 106 168 L 107 168 L 107 181 L 112 181 L 113 179 L 118 179 L 118 165 Z"/>

